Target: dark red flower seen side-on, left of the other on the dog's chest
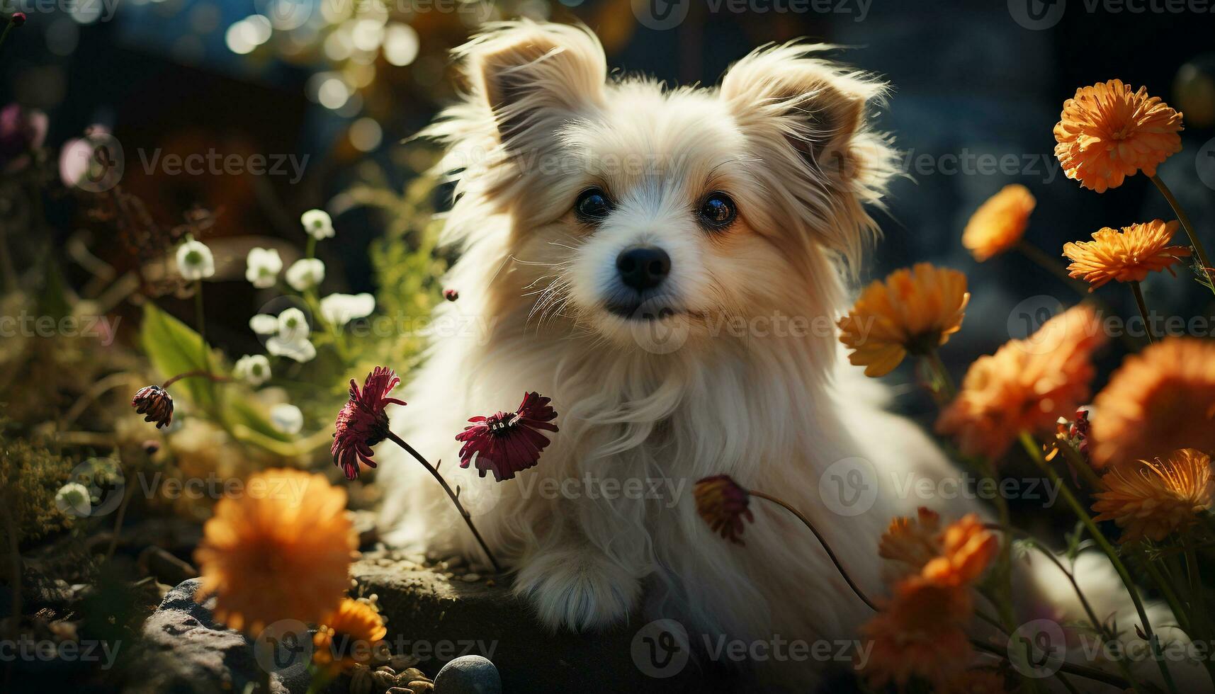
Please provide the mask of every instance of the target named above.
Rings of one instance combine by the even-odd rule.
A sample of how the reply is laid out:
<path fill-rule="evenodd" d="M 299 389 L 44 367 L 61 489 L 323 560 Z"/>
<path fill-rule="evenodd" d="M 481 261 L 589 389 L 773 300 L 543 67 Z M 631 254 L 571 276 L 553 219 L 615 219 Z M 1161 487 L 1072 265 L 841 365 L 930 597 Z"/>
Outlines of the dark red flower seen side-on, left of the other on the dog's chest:
<path fill-rule="evenodd" d="M 384 408 L 389 404 L 405 405 L 403 400 L 388 396 L 399 383 L 401 379 L 396 373 L 384 366 L 377 366 L 367 374 L 361 391 L 355 379 L 350 379 L 350 400 L 338 412 L 333 447 L 329 448 L 333 464 L 346 473 L 347 480 L 358 476 L 360 461 L 369 468 L 375 467 L 372 446 L 383 441 L 389 433 Z"/>

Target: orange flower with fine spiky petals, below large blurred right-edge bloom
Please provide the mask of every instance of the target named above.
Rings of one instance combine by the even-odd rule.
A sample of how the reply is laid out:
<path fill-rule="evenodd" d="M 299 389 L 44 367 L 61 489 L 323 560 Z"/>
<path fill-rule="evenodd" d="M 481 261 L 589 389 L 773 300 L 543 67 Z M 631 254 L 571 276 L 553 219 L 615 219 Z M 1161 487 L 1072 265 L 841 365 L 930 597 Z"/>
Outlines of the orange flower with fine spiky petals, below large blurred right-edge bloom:
<path fill-rule="evenodd" d="M 1194 448 L 1174 451 L 1168 458 L 1115 467 L 1101 478 L 1092 510 L 1096 520 L 1113 520 L 1123 529 L 1121 542 L 1147 537 L 1160 541 L 1194 523 L 1211 507 L 1215 479 L 1210 456 Z"/>

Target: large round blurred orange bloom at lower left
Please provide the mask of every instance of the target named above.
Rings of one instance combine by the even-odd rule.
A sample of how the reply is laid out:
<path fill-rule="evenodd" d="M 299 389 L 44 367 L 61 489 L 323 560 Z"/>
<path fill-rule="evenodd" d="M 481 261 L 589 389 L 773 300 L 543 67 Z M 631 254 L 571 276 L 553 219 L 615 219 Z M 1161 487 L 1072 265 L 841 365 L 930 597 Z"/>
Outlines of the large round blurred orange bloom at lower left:
<path fill-rule="evenodd" d="M 198 596 L 215 596 L 215 617 L 247 633 L 283 619 L 320 622 L 350 586 L 357 546 L 345 490 L 321 474 L 258 473 L 203 526 Z"/>

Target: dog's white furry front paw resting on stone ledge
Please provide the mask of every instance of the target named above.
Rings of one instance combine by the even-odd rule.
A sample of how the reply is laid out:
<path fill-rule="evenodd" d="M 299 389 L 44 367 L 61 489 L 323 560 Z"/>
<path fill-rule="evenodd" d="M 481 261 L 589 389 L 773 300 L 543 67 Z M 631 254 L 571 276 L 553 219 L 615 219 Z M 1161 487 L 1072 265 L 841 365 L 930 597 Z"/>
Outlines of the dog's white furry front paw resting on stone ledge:
<path fill-rule="evenodd" d="M 621 566 L 586 551 L 546 552 L 515 577 L 515 594 L 531 602 L 548 628 L 598 631 L 625 620 L 642 592 Z"/>

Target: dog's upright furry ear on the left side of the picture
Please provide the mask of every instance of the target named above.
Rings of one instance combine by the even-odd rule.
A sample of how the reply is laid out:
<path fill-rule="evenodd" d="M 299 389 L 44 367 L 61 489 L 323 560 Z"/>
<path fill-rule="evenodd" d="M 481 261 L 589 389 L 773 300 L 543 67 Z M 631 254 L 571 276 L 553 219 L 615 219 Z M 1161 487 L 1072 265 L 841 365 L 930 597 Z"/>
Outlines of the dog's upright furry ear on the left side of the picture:
<path fill-rule="evenodd" d="M 520 148 L 521 134 L 552 130 L 601 103 L 608 61 L 599 39 L 567 24 L 503 22 L 462 46 L 475 100 L 492 113 L 498 137 Z"/>

